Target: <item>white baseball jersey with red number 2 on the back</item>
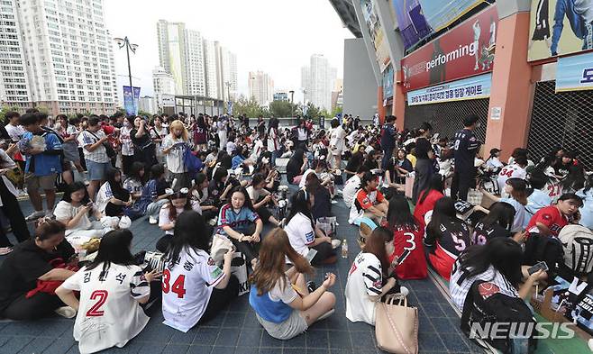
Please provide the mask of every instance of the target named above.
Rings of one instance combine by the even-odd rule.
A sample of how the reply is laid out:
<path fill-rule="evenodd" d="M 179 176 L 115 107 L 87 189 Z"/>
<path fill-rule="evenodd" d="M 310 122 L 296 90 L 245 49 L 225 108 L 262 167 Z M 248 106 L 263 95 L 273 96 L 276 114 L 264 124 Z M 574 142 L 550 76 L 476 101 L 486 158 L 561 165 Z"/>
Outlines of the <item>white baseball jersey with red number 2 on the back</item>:
<path fill-rule="evenodd" d="M 105 273 L 103 264 L 91 270 L 82 268 L 62 286 L 80 291 L 74 339 L 81 353 L 122 348 L 149 322 L 136 301 L 151 294 L 138 266 L 111 263 Z"/>

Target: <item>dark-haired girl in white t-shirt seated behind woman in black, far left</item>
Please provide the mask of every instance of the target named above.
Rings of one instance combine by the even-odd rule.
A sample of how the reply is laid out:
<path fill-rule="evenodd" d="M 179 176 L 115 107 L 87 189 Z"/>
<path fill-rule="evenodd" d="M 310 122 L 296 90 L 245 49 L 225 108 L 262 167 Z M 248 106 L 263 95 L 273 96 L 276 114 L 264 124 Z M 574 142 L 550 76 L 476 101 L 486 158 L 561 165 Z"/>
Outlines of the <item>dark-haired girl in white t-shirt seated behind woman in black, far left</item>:
<path fill-rule="evenodd" d="M 99 222 L 103 215 L 91 203 L 87 187 L 82 182 L 68 186 L 53 214 L 56 220 L 66 225 L 66 240 L 73 246 L 103 236 L 104 227 Z M 94 216 L 96 221 L 91 222 L 89 216 Z"/>

